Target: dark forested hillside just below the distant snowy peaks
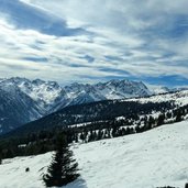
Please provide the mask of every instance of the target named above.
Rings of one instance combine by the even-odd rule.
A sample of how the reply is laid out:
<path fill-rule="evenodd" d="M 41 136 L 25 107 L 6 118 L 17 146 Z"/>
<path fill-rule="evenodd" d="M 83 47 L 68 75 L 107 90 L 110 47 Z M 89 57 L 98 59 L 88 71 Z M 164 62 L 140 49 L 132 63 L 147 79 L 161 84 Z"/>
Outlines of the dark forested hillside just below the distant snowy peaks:
<path fill-rule="evenodd" d="M 56 126 L 65 128 L 71 124 L 85 122 L 113 121 L 117 117 L 136 119 L 140 115 L 151 114 L 153 111 L 167 111 L 174 109 L 174 102 L 147 102 L 137 101 L 99 101 L 79 106 L 70 106 L 60 111 L 46 115 L 34 122 L 30 122 L 7 136 L 23 136 L 42 130 L 52 130 Z"/>

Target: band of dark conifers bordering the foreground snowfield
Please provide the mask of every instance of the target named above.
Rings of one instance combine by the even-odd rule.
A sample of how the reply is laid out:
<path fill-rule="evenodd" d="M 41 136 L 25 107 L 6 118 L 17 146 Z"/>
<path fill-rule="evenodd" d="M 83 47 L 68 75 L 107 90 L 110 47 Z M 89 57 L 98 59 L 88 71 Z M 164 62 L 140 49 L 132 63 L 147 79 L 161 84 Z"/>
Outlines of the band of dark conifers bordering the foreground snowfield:
<path fill-rule="evenodd" d="M 14 156 L 27 156 L 43 154 L 55 150 L 57 134 L 67 135 L 67 142 L 93 142 L 102 139 L 111 139 L 128 134 L 142 133 L 165 123 L 179 122 L 188 114 L 188 106 L 162 110 L 158 117 L 129 114 L 123 119 L 110 119 L 103 121 L 92 121 L 86 125 L 75 126 L 53 126 L 53 129 L 42 130 L 23 136 L 10 137 L 0 141 L 1 158 Z"/>

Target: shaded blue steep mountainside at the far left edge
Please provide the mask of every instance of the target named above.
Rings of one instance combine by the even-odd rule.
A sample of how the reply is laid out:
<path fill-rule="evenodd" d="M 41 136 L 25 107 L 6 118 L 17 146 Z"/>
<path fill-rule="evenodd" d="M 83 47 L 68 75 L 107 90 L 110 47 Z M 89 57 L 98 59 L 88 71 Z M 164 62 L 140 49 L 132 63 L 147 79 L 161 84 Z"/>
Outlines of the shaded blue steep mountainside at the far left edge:
<path fill-rule="evenodd" d="M 13 84 L 0 82 L 0 134 L 41 118 L 43 110 Z"/>

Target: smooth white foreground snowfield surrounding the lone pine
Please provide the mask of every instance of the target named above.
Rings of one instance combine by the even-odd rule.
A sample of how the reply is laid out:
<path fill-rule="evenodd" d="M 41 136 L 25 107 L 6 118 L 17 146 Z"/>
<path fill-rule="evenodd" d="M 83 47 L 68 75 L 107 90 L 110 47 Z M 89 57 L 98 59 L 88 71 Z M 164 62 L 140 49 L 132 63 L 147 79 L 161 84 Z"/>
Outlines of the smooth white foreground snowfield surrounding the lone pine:
<path fill-rule="evenodd" d="M 80 178 L 66 188 L 184 188 L 188 183 L 188 121 L 144 133 L 73 146 Z M 43 188 L 52 153 L 5 159 L 0 188 Z M 25 173 L 25 168 L 30 172 Z"/>

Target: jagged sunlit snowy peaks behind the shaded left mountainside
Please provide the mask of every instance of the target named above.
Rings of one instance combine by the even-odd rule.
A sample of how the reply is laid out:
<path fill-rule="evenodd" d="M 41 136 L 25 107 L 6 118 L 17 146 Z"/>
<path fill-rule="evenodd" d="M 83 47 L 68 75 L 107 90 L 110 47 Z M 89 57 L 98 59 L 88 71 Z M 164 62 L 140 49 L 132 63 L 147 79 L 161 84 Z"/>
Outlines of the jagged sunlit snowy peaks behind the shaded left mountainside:
<path fill-rule="evenodd" d="M 1 79 L 0 85 L 19 87 L 22 92 L 37 102 L 46 112 L 56 107 L 59 109 L 69 104 L 144 97 L 152 93 L 143 82 L 131 80 L 110 80 L 95 85 L 74 82 L 60 87 L 56 81 L 14 77 Z"/>

